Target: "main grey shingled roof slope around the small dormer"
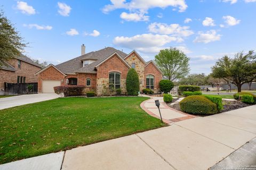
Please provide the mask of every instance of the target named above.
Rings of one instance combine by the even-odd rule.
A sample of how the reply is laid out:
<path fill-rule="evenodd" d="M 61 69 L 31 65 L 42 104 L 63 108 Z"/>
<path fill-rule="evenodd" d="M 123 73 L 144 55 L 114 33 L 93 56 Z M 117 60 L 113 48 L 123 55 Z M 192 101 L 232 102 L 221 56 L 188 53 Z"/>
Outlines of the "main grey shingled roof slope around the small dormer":
<path fill-rule="evenodd" d="M 119 56 L 124 58 L 127 54 L 121 52 L 112 47 L 107 47 L 100 49 L 95 52 L 90 52 L 79 57 L 73 58 L 67 62 L 61 63 L 56 65 L 55 67 L 58 68 L 61 72 L 65 74 L 74 74 L 74 73 L 97 73 L 95 69 L 95 65 L 98 65 L 100 62 L 105 60 L 107 57 L 112 55 L 113 53 L 117 53 Z M 83 60 L 97 60 L 89 65 L 83 67 Z"/>

